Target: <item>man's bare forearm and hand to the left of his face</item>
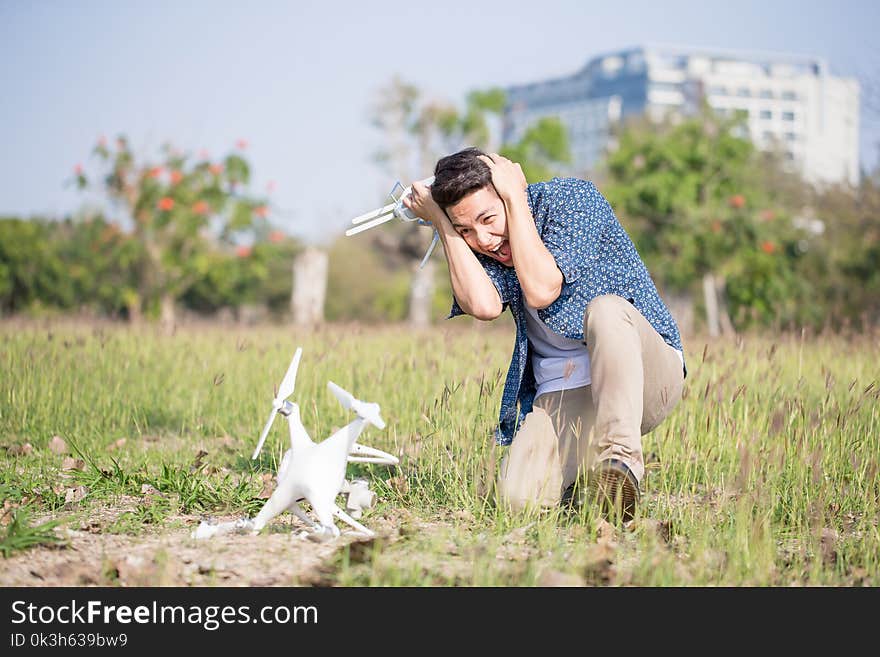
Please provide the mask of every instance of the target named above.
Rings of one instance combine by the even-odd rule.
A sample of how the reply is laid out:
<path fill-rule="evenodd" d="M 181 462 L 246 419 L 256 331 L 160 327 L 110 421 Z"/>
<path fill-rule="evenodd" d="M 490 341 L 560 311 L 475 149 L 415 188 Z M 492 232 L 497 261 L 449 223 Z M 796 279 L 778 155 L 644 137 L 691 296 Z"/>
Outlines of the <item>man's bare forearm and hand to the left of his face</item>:
<path fill-rule="evenodd" d="M 430 190 L 420 182 L 412 185 L 412 194 L 404 205 L 417 216 L 431 222 L 446 253 L 452 293 L 461 309 L 477 319 L 490 320 L 501 315 L 504 304 L 495 284 L 464 238 L 452 227 L 446 213 L 431 197 Z"/>

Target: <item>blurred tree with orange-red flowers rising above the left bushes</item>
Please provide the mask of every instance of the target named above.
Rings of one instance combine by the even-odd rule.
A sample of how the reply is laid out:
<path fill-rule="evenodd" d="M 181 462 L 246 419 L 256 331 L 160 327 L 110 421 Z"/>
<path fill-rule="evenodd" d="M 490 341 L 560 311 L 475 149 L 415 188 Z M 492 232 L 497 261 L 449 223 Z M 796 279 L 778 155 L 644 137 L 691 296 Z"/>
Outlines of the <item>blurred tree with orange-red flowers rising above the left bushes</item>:
<path fill-rule="evenodd" d="M 217 162 L 193 158 L 170 145 L 162 148 L 160 161 L 138 162 L 125 136 L 114 147 L 104 139 L 95 146 L 103 170 L 98 185 L 125 211 L 143 247 L 132 319 L 158 303 L 163 325 L 173 326 L 176 301 L 211 264 L 213 238 L 232 245 L 265 223 L 265 200 L 243 192 L 250 181 L 250 166 L 241 154 L 245 146 L 240 141 L 239 152 Z M 77 184 L 80 189 L 89 184 L 82 169 Z"/>

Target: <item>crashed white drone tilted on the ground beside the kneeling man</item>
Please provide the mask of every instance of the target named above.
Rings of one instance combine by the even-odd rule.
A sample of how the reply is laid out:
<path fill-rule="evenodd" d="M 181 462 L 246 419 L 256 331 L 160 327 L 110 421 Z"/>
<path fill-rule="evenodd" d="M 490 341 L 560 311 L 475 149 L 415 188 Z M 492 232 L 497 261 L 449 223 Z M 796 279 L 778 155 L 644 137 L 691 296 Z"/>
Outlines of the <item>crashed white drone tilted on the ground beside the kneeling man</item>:
<path fill-rule="evenodd" d="M 263 447 L 263 442 L 269 434 L 272 422 L 278 413 L 287 418 L 290 427 L 290 449 L 288 449 L 278 467 L 278 483 L 265 506 L 254 519 L 243 519 L 228 523 L 202 522 L 198 529 L 193 532 L 194 538 L 208 538 L 220 533 L 231 531 L 257 533 L 275 516 L 291 511 L 314 530 L 313 538 L 329 538 L 340 535 L 339 528 L 334 523 L 338 518 L 357 531 L 367 535 L 375 534 L 352 518 L 336 505 L 336 497 L 340 492 L 356 490 L 361 500 L 371 502 L 372 498 L 364 496 L 363 482 L 357 486 L 349 484 L 345 480 L 345 469 L 349 462 L 357 463 L 380 463 L 396 465 L 399 460 L 378 449 L 367 447 L 357 443 L 357 439 L 367 424 L 384 429 L 385 422 L 379 414 L 379 405 L 362 402 L 355 399 L 332 381 L 328 382 L 331 392 L 342 404 L 343 408 L 353 410 L 357 418 L 320 443 L 315 443 L 309 437 L 303 426 L 299 414 L 299 406 L 287 398 L 293 394 L 296 383 L 296 371 L 302 356 L 302 349 L 297 348 L 287 369 L 287 374 L 281 381 L 278 394 L 272 402 L 272 411 L 269 420 L 263 427 L 257 448 L 251 458 L 256 459 Z M 369 493 L 369 491 L 366 491 Z M 318 522 L 312 520 L 300 507 L 299 503 L 307 501 L 312 511 L 318 518 Z M 356 515 L 360 516 L 362 502 L 349 500 L 349 508 L 356 509 Z"/>

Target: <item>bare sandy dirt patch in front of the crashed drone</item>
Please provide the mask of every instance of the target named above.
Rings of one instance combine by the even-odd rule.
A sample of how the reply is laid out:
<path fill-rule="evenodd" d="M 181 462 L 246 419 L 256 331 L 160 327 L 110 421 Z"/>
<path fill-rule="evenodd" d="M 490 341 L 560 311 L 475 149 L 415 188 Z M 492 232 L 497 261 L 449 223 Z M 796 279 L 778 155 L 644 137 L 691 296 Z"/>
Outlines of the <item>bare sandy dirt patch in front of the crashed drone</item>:
<path fill-rule="evenodd" d="M 257 535 L 227 534 L 196 540 L 190 532 L 197 516 L 169 518 L 184 527 L 140 535 L 105 533 L 123 510 L 104 509 L 78 528 L 57 531 L 58 547 L 37 546 L 3 560 L 0 586 L 308 586 L 330 582 L 324 564 L 345 546 L 370 539 L 343 531 L 334 540 L 316 543 L 300 535 L 305 526 L 295 518 L 273 523 Z M 218 518 L 233 520 L 234 518 Z M 389 518 L 371 518 L 379 540 L 398 534 Z"/>

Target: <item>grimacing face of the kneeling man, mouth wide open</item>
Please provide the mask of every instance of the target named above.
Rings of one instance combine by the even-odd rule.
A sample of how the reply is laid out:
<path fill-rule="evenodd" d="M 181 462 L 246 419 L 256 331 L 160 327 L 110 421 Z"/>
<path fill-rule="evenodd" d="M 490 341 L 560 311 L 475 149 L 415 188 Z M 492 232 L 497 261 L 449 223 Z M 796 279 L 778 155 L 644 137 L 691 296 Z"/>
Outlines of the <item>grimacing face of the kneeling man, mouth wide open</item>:
<path fill-rule="evenodd" d="M 504 203 L 491 185 L 471 192 L 446 208 L 453 228 L 472 251 L 513 267 Z"/>

